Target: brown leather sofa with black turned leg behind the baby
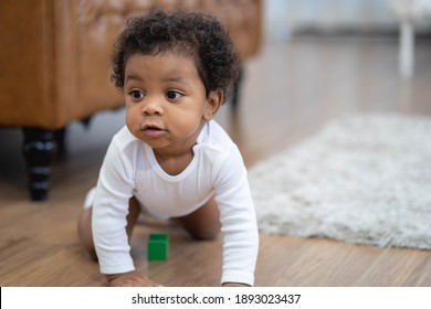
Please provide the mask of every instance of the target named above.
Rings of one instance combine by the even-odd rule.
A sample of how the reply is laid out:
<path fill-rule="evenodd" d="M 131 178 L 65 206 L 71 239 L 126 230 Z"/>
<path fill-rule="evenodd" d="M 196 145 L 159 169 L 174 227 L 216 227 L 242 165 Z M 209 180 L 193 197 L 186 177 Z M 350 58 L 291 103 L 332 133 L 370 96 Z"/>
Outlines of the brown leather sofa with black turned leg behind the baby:
<path fill-rule="evenodd" d="M 109 60 L 127 18 L 178 8 L 218 15 L 243 60 L 257 53 L 261 0 L 0 1 L 0 128 L 22 128 L 32 200 L 48 198 L 63 129 L 123 106 Z"/>

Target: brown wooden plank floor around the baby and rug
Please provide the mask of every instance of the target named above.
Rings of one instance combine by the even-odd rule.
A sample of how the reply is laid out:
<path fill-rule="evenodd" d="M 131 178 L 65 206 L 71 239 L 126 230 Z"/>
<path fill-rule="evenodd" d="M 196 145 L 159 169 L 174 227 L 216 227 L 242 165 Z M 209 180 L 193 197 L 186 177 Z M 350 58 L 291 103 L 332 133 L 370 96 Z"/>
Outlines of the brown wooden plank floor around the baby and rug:
<path fill-rule="evenodd" d="M 397 71 L 396 39 L 296 38 L 267 43 L 246 65 L 241 108 L 218 119 L 248 167 L 351 113 L 431 114 L 431 42 L 418 42 L 416 74 Z M 0 285 L 104 286 L 77 242 L 75 222 L 97 178 L 124 111 L 97 115 L 90 129 L 73 124 L 67 156 L 55 162 L 46 203 L 25 191 L 22 137 L 0 130 Z M 167 262 L 146 262 L 149 232 L 170 234 Z M 133 236 L 137 266 L 165 286 L 218 286 L 221 238 L 195 242 L 172 225 L 140 223 Z M 357 246 L 329 239 L 261 235 L 256 286 L 431 286 L 431 252 Z"/>

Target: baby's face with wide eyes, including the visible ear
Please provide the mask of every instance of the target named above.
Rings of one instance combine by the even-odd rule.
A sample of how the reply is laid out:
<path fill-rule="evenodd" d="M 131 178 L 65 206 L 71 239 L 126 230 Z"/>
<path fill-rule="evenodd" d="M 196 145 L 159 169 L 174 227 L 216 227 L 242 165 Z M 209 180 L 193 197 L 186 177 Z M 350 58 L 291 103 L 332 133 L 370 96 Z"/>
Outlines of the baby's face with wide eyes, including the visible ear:
<path fill-rule="evenodd" d="M 191 151 L 220 104 L 207 97 L 193 60 L 175 53 L 132 55 L 124 95 L 128 129 L 158 154 Z"/>

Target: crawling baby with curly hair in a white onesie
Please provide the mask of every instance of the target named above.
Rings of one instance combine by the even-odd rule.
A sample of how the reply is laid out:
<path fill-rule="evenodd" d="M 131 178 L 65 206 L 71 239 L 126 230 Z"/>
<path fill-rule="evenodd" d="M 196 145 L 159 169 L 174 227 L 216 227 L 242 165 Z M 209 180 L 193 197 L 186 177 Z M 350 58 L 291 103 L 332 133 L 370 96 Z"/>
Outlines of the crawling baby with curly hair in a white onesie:
<path fill-rule="evenodd" d="M 198 239 L 223 233 L 222 286 L 252 286 L 259 233 L 238 147 L 213 120 L 240 57 L 214 18 L 162 11 L 133 18 L 112 79 L 126 126 L 113 138 L 78 217 L 84 248 L 111 286 L 158 286 L 135 269 L 129 237 L 139 213 L 177 221 Z"/>

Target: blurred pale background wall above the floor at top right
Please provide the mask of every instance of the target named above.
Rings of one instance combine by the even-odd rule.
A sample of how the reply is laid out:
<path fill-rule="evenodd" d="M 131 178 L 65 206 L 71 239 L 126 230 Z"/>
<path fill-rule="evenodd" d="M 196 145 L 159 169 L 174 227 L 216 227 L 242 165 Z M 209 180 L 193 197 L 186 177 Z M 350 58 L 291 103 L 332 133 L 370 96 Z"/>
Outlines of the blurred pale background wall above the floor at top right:
<path fill-rule="evenodd" d="M 409 4 L 411 0 L 401 0 Z M 393 0 L 266 0 L 269 38 L 286 40 L 295 33 L 393 34 L 400 20 Z M 411 2 L 414 2 L 411 1 Z M 423 3 L 429 0 L 420 0 Z M 428 4 L 429 7 L 429 4 Z M 416 32 L 428 34 L 431 17 L 414 20 Z"/>

